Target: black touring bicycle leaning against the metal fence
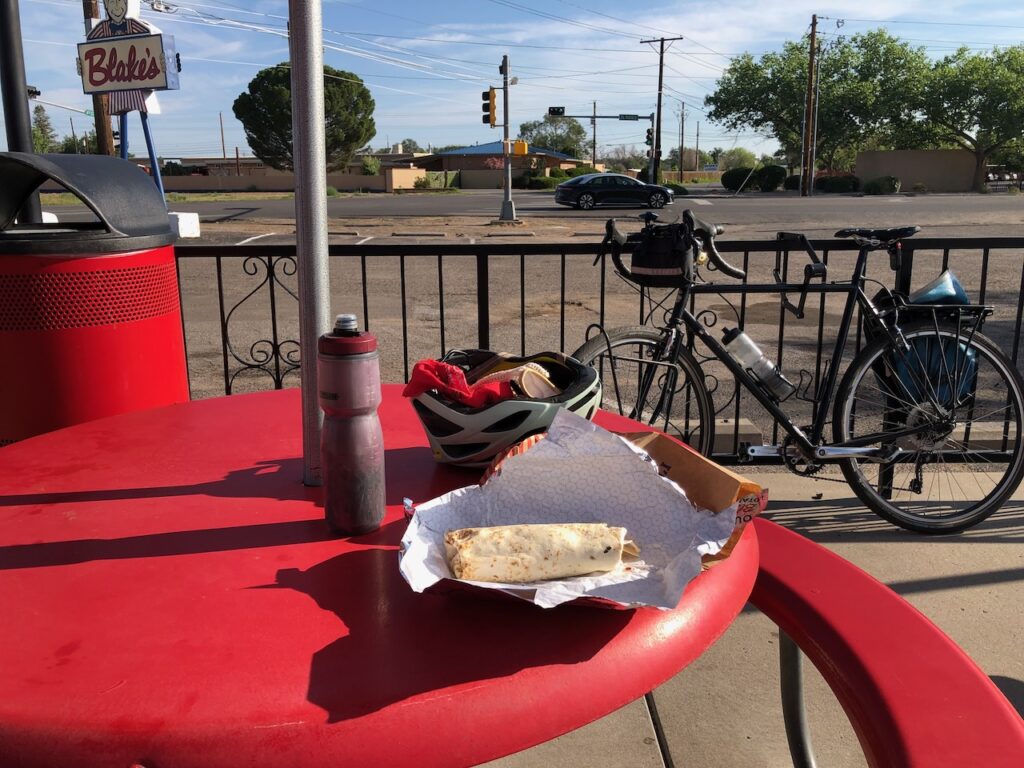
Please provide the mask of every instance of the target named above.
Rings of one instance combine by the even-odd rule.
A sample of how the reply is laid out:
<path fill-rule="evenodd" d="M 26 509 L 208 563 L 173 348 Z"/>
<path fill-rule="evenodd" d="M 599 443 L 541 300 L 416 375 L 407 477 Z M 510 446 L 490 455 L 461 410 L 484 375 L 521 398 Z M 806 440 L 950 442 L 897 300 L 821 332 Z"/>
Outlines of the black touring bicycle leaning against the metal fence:
<path fill-rule="evenodd" d="M 674 431 L 710 456 L 716 412 L 700 365 L 688 348 L 699 341 L 785 433 L 781 444 L 741 445 L 745 449 L 741 460 L 781 457 L 787 468 L 806 475 L 838 464 L 869 509 L 900 527 L 924 534 L 956 532 L 979 523 L 1020 484 L 1024 379 L 979 331 L 992 307 L 934 299 L 911 303 L 909 297 L 887 288 L 873 298 L 864 291 L 869 255 L 885 250 L 890 266 L 898 269 L 901 241 L 920 227 L 836 233 L 852 238 L 859 249 L 849 281 L 827 285 L 845 293 L 846 303 L 822 388 L 811 400 L 813 421 L 798 426 L 782 404 L 788 396 L 785 385 L 793 385 L 784 378 L 771 379 L 770 371 L 765 376 L 763 366 L 759 378 L 687 308 L 693 284 L 702 280 L 700 267 L 709 262 L 709 268 L 721 274 L 745 276 L 715 246 L 723 228 L 700 221 L 689 210 L 671 225 L 655 226 L 653 213 L 640 218 L 644 229 L 630 236 L 609 220 L 604 246 L 611 246 L 612 261 L 623 278 L 641 287 L 673 288 L 676 298 L 664 326 L 588 330 L 588 341 L 572 356 L 599 369 L 602 408 Z M 655 268 L 641 273 L 636 261 L 632 271 L 625 265 L 622 253 L 631 244 L 650 245 L 658 239 L 663 245 Z M 671 249 L 665 245 L 669 241 L 674 243 Z M 780 249 L 800 246 L 810 258 L 802 284 L 785 283 L 778 269 L 774 271 L 783 306 L 802 317 L 812 284 L 820 280 L 819 288 L 826 288 L 827 268 L 806 237 L 779 232 L 778 241 Z M 670 251 L 675 260 L 671 269 L 666 268 Z M 959 292 L 959 300 L 966 302 L 962 288 Z M 799 303 L 787 298 L 790 294 L 799 294 Z M 857 306 L 869 340 L 840 379 Z M 598 333 L 591 336 L 595 328 Z M 831 439 L 826 440 L 829 407 Z"/>

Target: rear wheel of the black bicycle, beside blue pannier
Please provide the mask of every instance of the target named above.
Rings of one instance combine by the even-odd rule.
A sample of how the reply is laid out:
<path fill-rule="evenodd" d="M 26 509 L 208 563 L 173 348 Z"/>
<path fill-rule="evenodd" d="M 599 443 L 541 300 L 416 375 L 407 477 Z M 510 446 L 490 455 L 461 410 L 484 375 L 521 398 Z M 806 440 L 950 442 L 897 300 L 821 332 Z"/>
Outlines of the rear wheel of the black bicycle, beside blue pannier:
<path fill-rule="evenodd" d="M 836 397 L 836 442 L 897 450 L 887 463 L 848 459 L 843 474 L 873 512 L 908 530 L 975 525 L 1024 477 L 1024 381 L 981 334 L 908 325 L 909 349 L 886 338 L 854 358 Z"/>

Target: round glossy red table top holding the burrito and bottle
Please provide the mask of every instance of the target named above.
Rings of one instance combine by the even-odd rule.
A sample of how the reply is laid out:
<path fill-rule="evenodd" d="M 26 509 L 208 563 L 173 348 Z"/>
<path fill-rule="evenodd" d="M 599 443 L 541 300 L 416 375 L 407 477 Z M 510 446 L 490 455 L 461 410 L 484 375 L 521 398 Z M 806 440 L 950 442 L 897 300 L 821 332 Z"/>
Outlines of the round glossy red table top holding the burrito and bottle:
<path fill-rule="evenodd" d="M 353 539 L 329 536 L 302 485 L 298 390 L 0 450 L 4 761 L 472 765 L 638 698 L 750 595 L 753 526 L 671 611 L 415 594 L 398 572 L 402 497 L 478 473 L 434 464 L 397 387 L 381 420 L 387 515 Z"/>

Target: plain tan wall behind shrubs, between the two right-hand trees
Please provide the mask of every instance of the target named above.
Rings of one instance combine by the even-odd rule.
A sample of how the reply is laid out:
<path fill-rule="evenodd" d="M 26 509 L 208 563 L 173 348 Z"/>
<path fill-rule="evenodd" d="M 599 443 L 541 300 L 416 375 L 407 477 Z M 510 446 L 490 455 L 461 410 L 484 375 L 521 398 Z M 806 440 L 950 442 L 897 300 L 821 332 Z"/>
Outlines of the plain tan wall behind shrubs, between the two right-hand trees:
<path fill-rule="evenodd" d="M 974 156 L 965 150 L 899 150 L 857 153 L 861 186 L 880 176 L 895 176 L 901 191 L 924 184 L 929 191 L 970 191 Z"/>

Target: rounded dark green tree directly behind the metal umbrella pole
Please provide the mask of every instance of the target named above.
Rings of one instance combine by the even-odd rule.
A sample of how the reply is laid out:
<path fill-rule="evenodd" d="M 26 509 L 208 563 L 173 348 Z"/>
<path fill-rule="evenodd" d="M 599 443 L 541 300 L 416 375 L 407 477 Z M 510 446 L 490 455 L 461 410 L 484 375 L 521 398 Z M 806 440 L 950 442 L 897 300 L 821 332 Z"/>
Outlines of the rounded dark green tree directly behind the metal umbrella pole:
<path fill-rule="evenodd" d="M 234 99 L 253 154 L 271 168 L 292 170 L 292 83 L 287 63 L 260 70 L 248 89 Z M 377 133 L 374 99 L 350 72 L 324 68 L 324 118 L 327 168 L 343 168 L 355 151 Z"/>

